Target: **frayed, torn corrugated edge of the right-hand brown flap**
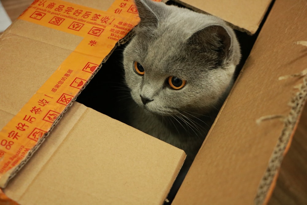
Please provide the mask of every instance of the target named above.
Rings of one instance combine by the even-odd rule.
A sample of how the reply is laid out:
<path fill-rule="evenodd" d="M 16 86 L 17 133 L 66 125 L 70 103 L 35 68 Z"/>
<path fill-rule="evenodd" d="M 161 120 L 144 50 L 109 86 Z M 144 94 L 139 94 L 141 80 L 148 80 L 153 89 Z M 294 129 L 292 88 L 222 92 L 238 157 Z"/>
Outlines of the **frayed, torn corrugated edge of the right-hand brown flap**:
<path fill-rule="evenodd" d="M 307 41 L 297 41 L 296 44 L 307 46 Z M 256 120 L 257 124 L 260 124 L 264 120 L 270 120 L 275 118 L 279 118 L 284 121 L 284 128 L 282 129 L 282 133 L 280 134 L 278 142 L 270 157 L 268 167 L 266 168 L 266 171 L 260 181 L 257 195 L 254 199 L 254 203 L 256 205 L 268 203 L 273 193 L 283 157 L 285 156 L 287 150 L 290 147 L 289 143 L 291 143 L 294 128 L 297 125 L 299 116 L 304 108 L 305 102 L 307 101 L 307 69 L 303 70 L 300 73 L 279 77 L 279 80 L 285 80 L 290 77 L 302 76 L 305 76 L 303 79 L 303 83 L 294 87 L 296 89 L 299 89 L 299 91 L 295 94 L 295 96 L 291 99 L 289 103 L 291 109 L 288 116 L 270 115 L 263 116 Z"/>

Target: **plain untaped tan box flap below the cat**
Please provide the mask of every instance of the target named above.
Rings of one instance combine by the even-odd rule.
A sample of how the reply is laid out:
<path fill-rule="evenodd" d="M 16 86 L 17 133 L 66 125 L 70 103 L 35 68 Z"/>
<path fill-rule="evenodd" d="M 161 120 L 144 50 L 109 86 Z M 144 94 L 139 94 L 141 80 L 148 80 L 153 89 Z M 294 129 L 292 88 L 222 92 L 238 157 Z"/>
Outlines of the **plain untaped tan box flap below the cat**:
<path fill-rule="evenodd" d="M 182 150 L 75 102 L 5 193 L 23 205 L 162 204 L 184 159 Z"/>

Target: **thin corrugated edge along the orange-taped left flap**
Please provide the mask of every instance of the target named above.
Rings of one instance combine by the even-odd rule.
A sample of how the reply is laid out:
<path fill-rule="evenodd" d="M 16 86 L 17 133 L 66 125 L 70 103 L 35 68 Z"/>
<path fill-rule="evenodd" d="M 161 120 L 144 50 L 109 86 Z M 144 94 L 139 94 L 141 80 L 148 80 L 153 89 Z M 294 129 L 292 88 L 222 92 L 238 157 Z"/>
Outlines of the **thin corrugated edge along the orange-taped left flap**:
<path fill-rule="evenodd" d="M 10 28 L 10 27 L 9 27 Z M 8 28 L 8 29 L 9 29 Z M 3 35 L 4 33 L 2 33 L 0 35 Z M 125 37 L 123 37 L 122 39 L 120 39 L 117 43 L 115 43 L 114 48 L 111 50 L 111 52 L 102 60 L 102 62 L 100 63 L 100 65 L 98 66 L 98 68 L 95 70 L 95 72 L 91 75 L 91 77 L 88 79 L 88 81 L 85 83 L 85 85 L 83 86 L 82 89 L 80 89 L 80 91 L 76 94 L 76 96 L 70 101 L 70 103 L 66 106 L 66 108 L 64 109 L 64 111 L 56 118 L 56 120 L 53 122 L 51 128 L 49 129 L 48 132 L 45 133 L 45 135 L 38 140 L 37 144 L 26 154 L 25 158 L 21 161 L 21 163 L 16 167 L 16 168 L 12 168 L 11 170 L 7 171 L 6 174 L 4 174 L 2 177 L 4 179 L 6 179 L 6 182 L 1 185 L 1 188 L 5 188 L 8 184 L 8 182 L 17 174 L 17 172 L 28 162 L 28 160 L 32 157 L 32 155 L 34 154 L 34 152 L 37 151 L 37 149 L 41 146 L 41 144 L 45 141 L 46 137 L 49 136 L 50 132 L 52 132 L 52 129 L 56 126 L 56 124 L 59 122 L 59 120 L 62 118 L 62 116 L 64 115 L 64 113 L 69 109 L 69 107 L 72 106 L 72 103 L 74 101 L 76 101 L 76 98 L 79 96 L 79 94 L 83 91 L 83 89 L 85 89 L 85 87 L 88 85 L 88 83 L 91 81 L 91 79 L 95 76 L 95 74 L 101 69 L 101 67 L 103 66 L 103 64 L 108 60 L 108 58 L 110 57 L 110 55 L 113 53 L 113 51 L 117 48 L 117 46 L 122 45 L 124 43 L 126 43 L 132 36 L 134 35 L 134 30 L 131 30 Z"/>

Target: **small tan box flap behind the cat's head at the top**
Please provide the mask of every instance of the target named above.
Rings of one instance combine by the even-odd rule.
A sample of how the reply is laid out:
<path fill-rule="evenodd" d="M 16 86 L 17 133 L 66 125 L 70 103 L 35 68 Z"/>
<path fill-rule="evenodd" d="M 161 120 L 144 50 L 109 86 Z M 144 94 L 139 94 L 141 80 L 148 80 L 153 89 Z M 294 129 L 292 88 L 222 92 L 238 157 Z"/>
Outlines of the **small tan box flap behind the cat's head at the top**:
<path fill-rule="evenodd" d="M 220 17 L 231 23 L 239 30 L 244 30 L 248 34 L 255 34 L 266 10 L 272 0 L 180 0 L 179 2 L 197 11 Z"/>

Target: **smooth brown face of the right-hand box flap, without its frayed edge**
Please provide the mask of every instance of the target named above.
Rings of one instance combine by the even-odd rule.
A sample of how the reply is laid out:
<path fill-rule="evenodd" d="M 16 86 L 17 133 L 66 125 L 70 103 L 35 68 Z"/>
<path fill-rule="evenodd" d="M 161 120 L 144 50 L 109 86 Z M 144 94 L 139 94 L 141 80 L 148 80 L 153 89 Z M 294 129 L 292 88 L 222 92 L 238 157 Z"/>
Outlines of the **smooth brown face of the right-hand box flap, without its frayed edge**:
<path fill-rule="evenodd" d="M 306 69 L 306 2 L 278 0 L 218 119 L 173 204 L 253 204 L 301 79 L 278 77 Z M 288 9 L 291 8 L 291 9 Z M 264 193 L 265 194 L 265 193 Z M 259 202 L 261 204 L 261 202 Z"/>

